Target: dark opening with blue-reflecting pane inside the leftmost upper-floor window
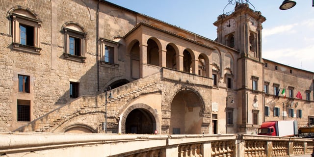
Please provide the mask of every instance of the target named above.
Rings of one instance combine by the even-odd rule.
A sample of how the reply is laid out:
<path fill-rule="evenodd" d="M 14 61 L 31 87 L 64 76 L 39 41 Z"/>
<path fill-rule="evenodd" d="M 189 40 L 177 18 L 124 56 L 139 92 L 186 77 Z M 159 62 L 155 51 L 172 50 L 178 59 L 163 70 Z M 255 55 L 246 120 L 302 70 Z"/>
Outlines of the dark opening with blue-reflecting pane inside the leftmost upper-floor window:
<path fill-rule="evenodd" d="M 20 44 L 34 46 L 34 27 L 20 24 Z"/>

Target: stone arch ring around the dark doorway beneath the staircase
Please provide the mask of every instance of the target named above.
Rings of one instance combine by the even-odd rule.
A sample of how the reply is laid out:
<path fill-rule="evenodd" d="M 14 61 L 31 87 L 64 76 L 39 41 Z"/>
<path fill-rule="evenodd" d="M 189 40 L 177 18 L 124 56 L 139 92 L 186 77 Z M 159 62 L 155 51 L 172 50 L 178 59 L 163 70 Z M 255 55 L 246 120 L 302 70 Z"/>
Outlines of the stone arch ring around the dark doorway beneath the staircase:
<path fill-rule="evenodd" d="M 134 105 L 129 106 L 122 115 L 122 118 L 121 118 L 121 132 L 122 133 L 126 133 L 127 118 L 129 116 L 129 114 L 131 113 L 131 111 L 133 111 L 135 109 L 141 109 L 143 111 L 146 111 L 146 113 L 149 114 L 150 118 L 152 118 L 152 120 L 153 120 L 152 132 L 154 130 L 157 130 L 160 132 L 160 127 L 159 127 L 160 122 L 159 122 L 158 114 L 157 114 L 156 110 L 154 108 L 152 108 L 151 106 L 146 105 L 146 104 L 134 104 Z"/>

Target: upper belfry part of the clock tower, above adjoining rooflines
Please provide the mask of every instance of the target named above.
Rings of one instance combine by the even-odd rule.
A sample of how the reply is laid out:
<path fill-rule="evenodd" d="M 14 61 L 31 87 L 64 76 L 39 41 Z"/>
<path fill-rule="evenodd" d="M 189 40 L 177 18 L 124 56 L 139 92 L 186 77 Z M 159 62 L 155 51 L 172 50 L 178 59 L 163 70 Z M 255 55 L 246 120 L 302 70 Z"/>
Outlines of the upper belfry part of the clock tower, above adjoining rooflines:
<path fill-rule="evenodd" d="M 237 3 L 235 11 L 222 14 L 214 23 L 217 26 L 217 41 L 258 61 L 262 59 L 262 23 L 265 17 L 253 11 L 247 3 Z"/>

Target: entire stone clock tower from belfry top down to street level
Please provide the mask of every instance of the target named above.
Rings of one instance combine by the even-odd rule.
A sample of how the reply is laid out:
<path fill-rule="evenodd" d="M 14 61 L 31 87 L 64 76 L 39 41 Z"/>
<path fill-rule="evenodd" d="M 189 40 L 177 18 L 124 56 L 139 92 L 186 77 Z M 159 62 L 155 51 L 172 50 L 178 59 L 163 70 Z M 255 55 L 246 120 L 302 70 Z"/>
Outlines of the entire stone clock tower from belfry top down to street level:
<path fill-rule="evenodd" d="M 265 20 L 261 12 L 252 10 L 248 3 L 236 3 L 233 13 L 220 15 L 214 23 L 217 42 L 227 46 L 220 50 L 221 62 L 226 62 L 223 59 L 227 55 L 235 58 L 231 77 L 234 85 L 226 90 L 226 96 L 233 95 L 235 100 L 232 107 L 237 110 L 233 114 L 236 125 L 227 126 L 228 133 L 255 134 L 263 121 L 264 76 L 261 72 L 262 23 Z"/>

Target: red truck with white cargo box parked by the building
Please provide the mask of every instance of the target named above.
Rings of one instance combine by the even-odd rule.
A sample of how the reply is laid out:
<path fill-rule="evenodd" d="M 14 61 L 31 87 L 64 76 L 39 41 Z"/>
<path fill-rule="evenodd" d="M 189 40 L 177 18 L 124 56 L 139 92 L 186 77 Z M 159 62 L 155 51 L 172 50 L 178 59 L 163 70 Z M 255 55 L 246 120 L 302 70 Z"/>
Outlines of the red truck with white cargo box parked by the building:
<path fill-rule="evenodd" d="M 268 136 L 296 136 L 298 134 L 298 121 L 270 121 L 263 122 L 258 135 Z"/>

